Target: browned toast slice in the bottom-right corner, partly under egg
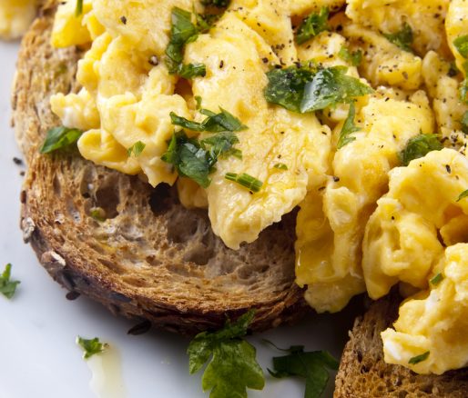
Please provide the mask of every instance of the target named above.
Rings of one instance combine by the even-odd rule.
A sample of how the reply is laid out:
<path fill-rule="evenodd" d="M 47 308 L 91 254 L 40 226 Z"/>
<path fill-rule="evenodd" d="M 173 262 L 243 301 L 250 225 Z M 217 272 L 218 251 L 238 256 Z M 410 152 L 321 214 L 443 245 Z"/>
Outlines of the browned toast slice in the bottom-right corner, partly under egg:
<path fill-rule="evenodd" d="M 381 332 L 396 320 L 400 303 L 401 298 L 391 294 L 356 319 L 341 357 L 334 398 L 468 396 L 468 368 L 423 375 L 383 362 Z"/>

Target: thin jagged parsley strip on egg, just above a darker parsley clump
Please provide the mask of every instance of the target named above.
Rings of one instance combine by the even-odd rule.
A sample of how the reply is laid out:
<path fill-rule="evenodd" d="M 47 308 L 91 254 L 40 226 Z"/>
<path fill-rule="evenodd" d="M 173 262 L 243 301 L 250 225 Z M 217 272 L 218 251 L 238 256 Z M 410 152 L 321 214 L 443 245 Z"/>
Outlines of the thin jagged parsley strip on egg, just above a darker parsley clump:
<path fill-rule="evenodd" d="M 241 131 L 247 129 L 247 125 L 244 125 L 240 122 L 240 120 L 232 115 L 229 114 L 223 108 L 219 108 L 220 113 L 215 114 L 207 109 L 200 110 L 200 114 L 204 114 L 208 116 L 203 122 L 193 122 L 185 117 L 180 117 L 174 112 L 170 113 L 170 119 L 172 124 L 179 125 L 184 128 L 188 128 L 188 130 L 203 132 L 208 131 L 210 133 L 218 133 L 223 131 Z"/>

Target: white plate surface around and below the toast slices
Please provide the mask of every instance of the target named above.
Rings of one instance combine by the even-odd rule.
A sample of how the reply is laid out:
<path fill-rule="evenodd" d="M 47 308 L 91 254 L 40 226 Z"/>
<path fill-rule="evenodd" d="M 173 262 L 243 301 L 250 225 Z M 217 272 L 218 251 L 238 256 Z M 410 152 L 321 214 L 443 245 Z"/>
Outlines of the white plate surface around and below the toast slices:
<path fill-rule="evenodd" d="M 91 373 L 75 344 L 77 334 L 111 343 L 123 368 L 127 398 L 206 397 L 201 373 L 188 374 L 185 353 L 188 340 L 174 334 L 151 332 L 127 335 L 134 325 L 108 313 L 85 297 L 66 300 L 66 291 L 39 265 L 29 245 L 23 244 L 19 224 L 21 157 L 10 128 L 10 87 L 15 70 L 17 43 L 0 43 L 0 271 L 13 264 L 13 278 L 21 281 L 8 301 L 0 295 L 0 398 L 87 398 Z M 312 316 L 295 326 L 249 337 L 267 373 L 271 357 L 281 353 L 262 343 L 267 338 L 280 347 L 304 344 L 307 350 L 329 350 L 340 357 L 352 324 L 351 313 Z M 267 373 L 268 374 L 268 373 Z M 262 392 L 249 397 L 303 396 L 300 380 L 276 380 L 266 376 Z M 325 396 L 331 396 L 329 389 Z"/>

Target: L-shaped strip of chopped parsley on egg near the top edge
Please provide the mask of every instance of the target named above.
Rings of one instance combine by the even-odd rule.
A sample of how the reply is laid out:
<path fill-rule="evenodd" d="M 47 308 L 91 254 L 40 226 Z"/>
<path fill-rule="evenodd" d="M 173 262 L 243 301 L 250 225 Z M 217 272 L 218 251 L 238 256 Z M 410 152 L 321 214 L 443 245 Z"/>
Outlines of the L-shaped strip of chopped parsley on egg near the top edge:
<path fill-rule="evenodd" d="M 198 28 L 192 24 L 191 14 L 178 7 L 172 9 L 170 39 L 166 48 L 166 65 L 171 75 L 180 75 L 187 79 L 206 75 L 203 64 L 183 65 L 184 48 L 198 37 Z"/>

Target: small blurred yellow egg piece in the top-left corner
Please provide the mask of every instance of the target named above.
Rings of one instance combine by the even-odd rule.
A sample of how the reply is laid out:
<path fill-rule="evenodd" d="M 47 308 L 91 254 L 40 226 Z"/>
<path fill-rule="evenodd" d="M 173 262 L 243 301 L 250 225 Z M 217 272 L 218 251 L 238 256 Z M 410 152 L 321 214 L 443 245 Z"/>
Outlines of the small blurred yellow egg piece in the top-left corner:
<path fill-rule="evenodd" d="M 15 39 L 25 33 L 36 16 L 36 0 L 0 2 L 0 38 Z"/>

